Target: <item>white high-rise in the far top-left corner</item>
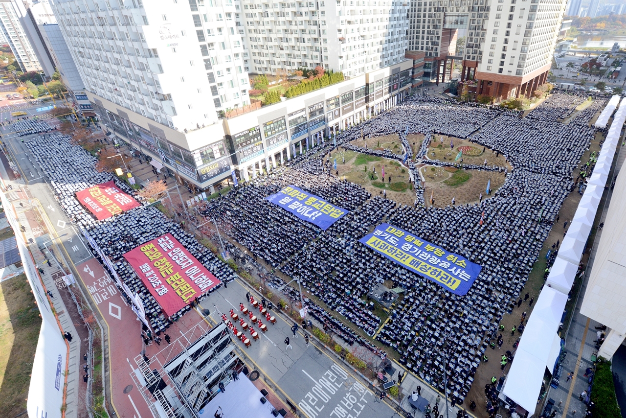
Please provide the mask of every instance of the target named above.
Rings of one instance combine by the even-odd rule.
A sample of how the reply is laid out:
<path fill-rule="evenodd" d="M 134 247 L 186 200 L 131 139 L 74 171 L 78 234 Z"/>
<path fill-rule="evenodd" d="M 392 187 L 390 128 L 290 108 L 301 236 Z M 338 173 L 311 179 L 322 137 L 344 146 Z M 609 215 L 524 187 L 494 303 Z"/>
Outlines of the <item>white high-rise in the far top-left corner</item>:
<path fill-rule="evenodd" d="M 11 0 L 0 0 L 0 29 L 4 38 L 9 43 L 13 55 L 22 71 L 41 71 L 33 46 L 28 39 L 26 31 L 20 21 L 21 13 L 16 9 L 16 4 Z"/>

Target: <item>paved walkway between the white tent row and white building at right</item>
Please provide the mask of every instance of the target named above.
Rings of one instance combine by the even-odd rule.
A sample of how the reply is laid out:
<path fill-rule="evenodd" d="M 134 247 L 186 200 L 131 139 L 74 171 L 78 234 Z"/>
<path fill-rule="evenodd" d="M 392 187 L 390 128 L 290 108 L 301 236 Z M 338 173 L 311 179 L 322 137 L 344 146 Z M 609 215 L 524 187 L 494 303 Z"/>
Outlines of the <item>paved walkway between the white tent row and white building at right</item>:
<path fill-rule="evenodd" d="M 622 138 L 623 140 L 623 138 Z M 610 185 L 617 176 L 618 172 L 623 167 L 626 159 L 626 147 L 620 147 L 618 150 L 617 161 L 615 162 L 615 169 L 611 180 L 607 181 L 607 185 Z M 604 206 L 598 208 L 600 211 L 600 219 L 597 220 L 596 225 L 599 222 L 604 222 L 607 216 L 608 206 L 613 191 L 609 189 L 607 197 L 604 201 Z M 596 233 L 595 240 L 592 243 L 592 249 L 587 266 L 585 266 L 585 275 L 580 287 L 580 293 L 575 307 L 574 315 L 572 315 L 572 323 L 565 336 L 567 357 L 563 360 L 563 372 L 561 374 L 560 385 L 555 389 L 551 387 L 546 395 L 548 399 L 555 400 L 555 407 L 557 409 L 557 416 L 576 418 L 584 416 L 587 405 L 583 404 L 578 399 L 583 390 L 588 390 L 590 385 L 588 377 L 585 377 L 585 369 L 592 367 L 591 361 L 592 353 L 595 352 L 595 342 L 597 338 L 597 329 L 601 324 L 587 318 L 587 316 L 580 314 L 580 305 L 582 305 L 583 297 L 587 291 L 587 282 L 589 274 L 592 270 L 593 260 L 595 254 L 598 251 L 598 244 L 600 243 L 600 236 L 602 236 L 602 229 L 599 229 Z M 567 381 L 567 375 L 573 372 L 573 378 L 569 382 Z"/>

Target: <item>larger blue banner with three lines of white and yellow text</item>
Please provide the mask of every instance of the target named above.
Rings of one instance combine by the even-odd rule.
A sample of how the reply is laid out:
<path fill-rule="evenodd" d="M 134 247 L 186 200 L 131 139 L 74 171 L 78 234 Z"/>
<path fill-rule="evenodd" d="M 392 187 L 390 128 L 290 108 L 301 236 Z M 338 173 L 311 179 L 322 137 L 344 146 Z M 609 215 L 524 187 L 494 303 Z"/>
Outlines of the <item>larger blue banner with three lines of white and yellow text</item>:
<path fill-rule="evenodd" d="M 481 270 L 478 264 L 389 224 L 377 226 L 359 242 L 459 296 L 468 293 Z"/>

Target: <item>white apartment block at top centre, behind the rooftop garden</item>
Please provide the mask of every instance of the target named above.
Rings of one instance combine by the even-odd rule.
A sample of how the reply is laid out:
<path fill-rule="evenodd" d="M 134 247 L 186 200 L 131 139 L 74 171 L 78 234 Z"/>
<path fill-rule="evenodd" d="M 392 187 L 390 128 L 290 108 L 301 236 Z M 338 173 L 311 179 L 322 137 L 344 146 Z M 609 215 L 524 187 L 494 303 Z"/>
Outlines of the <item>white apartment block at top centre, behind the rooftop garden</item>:
<path fill-rule="evenodd" d="M 319 65 L 352 77 L 404 60 L 407 2 L 255 0 L 242 5 L 254 73 Z"/>

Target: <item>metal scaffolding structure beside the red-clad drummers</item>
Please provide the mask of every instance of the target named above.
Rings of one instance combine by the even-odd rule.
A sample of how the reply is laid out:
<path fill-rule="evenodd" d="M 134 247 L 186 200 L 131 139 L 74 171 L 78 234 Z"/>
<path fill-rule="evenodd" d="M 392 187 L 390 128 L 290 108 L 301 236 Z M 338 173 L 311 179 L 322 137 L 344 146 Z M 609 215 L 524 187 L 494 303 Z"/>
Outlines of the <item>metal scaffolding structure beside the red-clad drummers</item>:
<path fill-rule="evenodd" d="M 202 336 L 192 342 L 198 332 Z M 231 335 L 224 323 L 211 328 L 200 321 L 148 362 L 143 354 L 134 358 L 131 377 L 156 417 L 198 418 L 218 384 L 232 379 L 239 358 Z"/>

